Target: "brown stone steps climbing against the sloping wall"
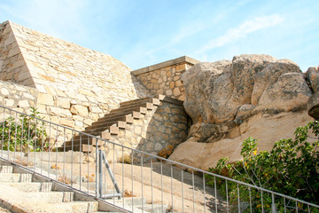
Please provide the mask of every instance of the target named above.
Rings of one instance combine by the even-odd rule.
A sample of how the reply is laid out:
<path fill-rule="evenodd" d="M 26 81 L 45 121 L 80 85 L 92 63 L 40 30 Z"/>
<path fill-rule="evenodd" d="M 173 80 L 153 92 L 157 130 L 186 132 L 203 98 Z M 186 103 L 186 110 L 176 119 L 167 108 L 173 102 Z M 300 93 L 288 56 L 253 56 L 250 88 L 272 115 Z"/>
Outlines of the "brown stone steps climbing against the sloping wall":
<path fill-rule="evenodd" d="M 111 139 L 111 136 L 119 134 L 120 130 L 125 130 L 128 125 L 132 125 L 135 120 L 141 119 L 142 114 L 147 114 L 155 106 L 159 106 L 160 100 L 165 96 L 157 95 L 152 98 L 135 99 L 122 102 L 120 107 L 113 109 L 109 114 L 93 122 L 91 126 L 85 128 L 83 133 L 96 136 L 98 138 Z M 77 135 L 73 140 L 66 141 L 66 147 L 60 147 L 60 150 L 66 149 L 73 151 L 92 152 L 96 141 L 87 135 Z"/>

